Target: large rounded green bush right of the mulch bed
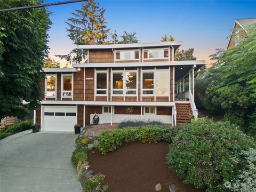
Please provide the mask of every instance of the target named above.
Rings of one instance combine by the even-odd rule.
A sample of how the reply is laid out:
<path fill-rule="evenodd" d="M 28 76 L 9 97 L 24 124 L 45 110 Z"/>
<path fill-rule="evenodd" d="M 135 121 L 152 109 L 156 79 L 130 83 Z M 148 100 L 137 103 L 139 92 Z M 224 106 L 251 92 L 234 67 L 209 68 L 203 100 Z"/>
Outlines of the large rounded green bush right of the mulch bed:
<path fill-rule="evenodd" d="M 207 191 L 227 191 L 225 182 L 234 180 L 241 168 L 233 159 L 239 159 L 253 142 L 233 124 L 197 119 L 180 127 L 166 159 L 185 183 Z"/>

